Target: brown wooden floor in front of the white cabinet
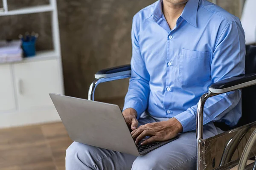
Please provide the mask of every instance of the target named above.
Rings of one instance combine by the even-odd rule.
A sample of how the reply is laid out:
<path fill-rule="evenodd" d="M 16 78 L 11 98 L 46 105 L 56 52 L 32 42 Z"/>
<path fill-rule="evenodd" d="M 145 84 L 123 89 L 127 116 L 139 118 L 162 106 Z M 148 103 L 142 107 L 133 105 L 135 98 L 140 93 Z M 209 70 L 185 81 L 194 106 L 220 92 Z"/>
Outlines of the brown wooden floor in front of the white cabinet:
<path fill-rule="evenodd" d="M 65 170 L 71 143 L 61 122 L 1 129 L 0 170 Z"/>

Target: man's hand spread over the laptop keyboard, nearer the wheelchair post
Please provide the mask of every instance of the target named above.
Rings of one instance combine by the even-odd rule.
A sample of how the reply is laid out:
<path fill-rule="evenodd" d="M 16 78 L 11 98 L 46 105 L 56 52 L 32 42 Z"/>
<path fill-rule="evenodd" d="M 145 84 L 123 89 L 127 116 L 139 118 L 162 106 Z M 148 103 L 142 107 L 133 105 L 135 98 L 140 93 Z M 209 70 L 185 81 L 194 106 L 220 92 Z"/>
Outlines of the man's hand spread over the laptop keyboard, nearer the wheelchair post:
<path fill-rule="evenodd" d="M 144 139 L 146 136 L 151 136 L 150 138 L 146 139 L 144 142 L 141 143 L 141 145 L 144 145 L 154 141 L 160 142 L 172 139 L 182 131 L 183 127 L 180 122 L 175 118 L 171 118 L 168 121 L 148 123 L 142 125 L 132 131 L 131 135 L 134 140 L 136 139 L 136 144 Z"/>

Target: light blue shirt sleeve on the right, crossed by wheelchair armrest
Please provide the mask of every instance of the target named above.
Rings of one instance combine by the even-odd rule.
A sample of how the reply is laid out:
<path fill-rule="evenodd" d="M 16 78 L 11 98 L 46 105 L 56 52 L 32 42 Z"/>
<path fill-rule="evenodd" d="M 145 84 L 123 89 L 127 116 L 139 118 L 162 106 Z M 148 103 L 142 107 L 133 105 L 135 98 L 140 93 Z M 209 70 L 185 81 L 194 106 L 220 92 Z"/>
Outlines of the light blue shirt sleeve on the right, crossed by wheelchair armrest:
<path fill-rule="evenodd" d="M 228 23 L 218 34 L 212 54 L 212 82 L 244 74 L 245 38 L 239 21 Z M 204 125 L 227 115 L 241 100 L 241 90 L 210 97 L 204 105 Z M 197 105 L 174 116 L 183 126 L 183 132 L 196 129 Z M 232 115 L 231 115 L 232 116 Z M 226 122 L 227 123 L 227 122 Z"/>

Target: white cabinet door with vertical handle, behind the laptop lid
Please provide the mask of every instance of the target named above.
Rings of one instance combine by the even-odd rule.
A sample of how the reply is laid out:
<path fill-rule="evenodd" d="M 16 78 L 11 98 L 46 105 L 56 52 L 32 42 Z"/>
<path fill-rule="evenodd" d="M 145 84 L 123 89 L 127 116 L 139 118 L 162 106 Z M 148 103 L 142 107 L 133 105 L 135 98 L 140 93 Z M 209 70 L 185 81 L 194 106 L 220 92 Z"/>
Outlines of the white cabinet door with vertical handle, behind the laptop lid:
<path fill-rule="evenodd" d="M 14 65 L 17 102 L 20 110 L 52 106 L 49 93 L 61 94 L 58 61 L 45 60 Z"/>

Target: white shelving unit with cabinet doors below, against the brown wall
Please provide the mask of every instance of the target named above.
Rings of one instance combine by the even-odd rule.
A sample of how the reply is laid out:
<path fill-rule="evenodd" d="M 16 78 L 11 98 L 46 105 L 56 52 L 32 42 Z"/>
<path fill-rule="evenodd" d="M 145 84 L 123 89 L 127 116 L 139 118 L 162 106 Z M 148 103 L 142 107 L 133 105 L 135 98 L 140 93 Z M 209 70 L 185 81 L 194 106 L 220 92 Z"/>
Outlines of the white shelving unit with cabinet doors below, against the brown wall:
<path fill-rule="evenodd" d="M 33 57 L 0 64 L 0 120 L 3 120 L 0 121 L 0 128 L 60 121 L 49 97 L 49 93 L 64 94 L 56 0 L 24 8 L 13 8 L 14 5 L 10 2 L 16 3 L 17 0 L 0 1 L 3 1 L 0 16 L 12 15 L 12 18 L 15 18 L 14 15 L 31 14 L 29 20 L 35 21 L 30 17 L 32 14 L 49 12 L 50 25 L 47 28 L 51 30 L 51 37 L 43 40 L 45 44 L 52 44 L 52 48 L 38 48 L 39 51 L 36 51 Z M 25 0 L 22 2 L 26 3 Z M 40 19 L 38 21 L 42 22 Z M 18 27 L 20 30 L 25 28 L 29 31 L 29 21 L 21 24 L 24 26 Z M 8 34 L 8 31 L 7 29 L 3 34 Z M 17 32 L 18 30 L 13 34 L 18 34 Z M 6 61 L 11 60 L 9 58 Z"/>

